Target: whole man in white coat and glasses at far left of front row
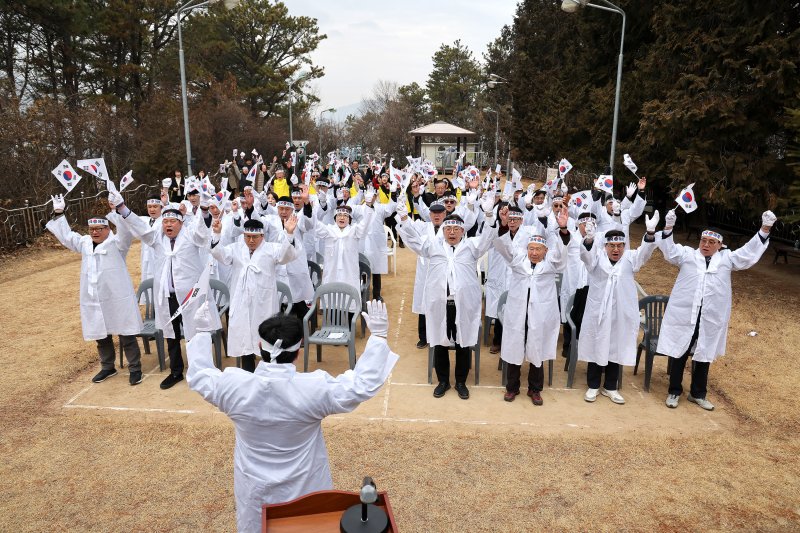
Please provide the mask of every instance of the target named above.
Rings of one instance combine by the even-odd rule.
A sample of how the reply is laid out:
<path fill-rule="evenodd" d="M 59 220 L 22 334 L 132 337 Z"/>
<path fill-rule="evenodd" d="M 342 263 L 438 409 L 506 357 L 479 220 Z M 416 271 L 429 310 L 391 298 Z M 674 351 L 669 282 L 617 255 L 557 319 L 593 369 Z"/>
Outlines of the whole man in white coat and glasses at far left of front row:
<path fill-rule="evenodd" d="M 72 231 L 64 216 L 63 195 L 53 196 L 53 219 L 47 229 L 69 250 L 81 254 L 80 311 L 83 338 L 97 341 L 100 372 L 92 378 L 100 383 L 117 374 L 114 367 L 113 335 L 120 336 L 120 350 L 128 360 L 129 382 L 142 382 L 142 364 L 137 335 L 142 317 L 136 303 L 125 257 L 131 235 L 118 228 L 115 235 L 103 217 L 90 218 L 89 235 Z"/>

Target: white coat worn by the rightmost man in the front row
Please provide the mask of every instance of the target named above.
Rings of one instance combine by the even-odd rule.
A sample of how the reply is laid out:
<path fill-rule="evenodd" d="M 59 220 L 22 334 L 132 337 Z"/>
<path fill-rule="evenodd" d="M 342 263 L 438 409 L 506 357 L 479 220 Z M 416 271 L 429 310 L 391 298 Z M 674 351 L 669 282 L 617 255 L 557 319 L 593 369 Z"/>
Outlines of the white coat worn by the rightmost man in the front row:
<path fill-rule="evenodd" d="M 725 355 L 731 317 L 731 271 L 755 265 L 769 241 L 762 242 L 756 234 L 734 252 L 720 250 L 712 255 L 708 267 L 699 250 L 675 244 L 672 235 L 661 239 L 658 246 L 667 261 L 680 267 L 680 272 L 661 323 L 656 351 L 670 357 L 686 353 L 699 313 L 700 331 L 692 360 L 713 362 Z"/>

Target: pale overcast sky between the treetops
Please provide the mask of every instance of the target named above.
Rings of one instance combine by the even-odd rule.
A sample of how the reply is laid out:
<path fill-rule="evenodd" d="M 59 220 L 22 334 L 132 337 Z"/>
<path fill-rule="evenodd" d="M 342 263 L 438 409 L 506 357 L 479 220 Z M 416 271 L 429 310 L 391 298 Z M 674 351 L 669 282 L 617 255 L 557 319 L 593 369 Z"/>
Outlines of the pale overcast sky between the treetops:
<path fill-rule="evenodd" d="M 517 0 L 283 1 L 292 16 L 316 18 L 320 33 L 328 36 L 311 54 L 315 65 L 325 67 L 325 76 L 313 83 L 322 100 L 319 109 L 358 104 L 378 80 L 424 86 L 442 43 L 461 39 L 482 61 L 503 25 L 514 22 L 517 5 Z"/>

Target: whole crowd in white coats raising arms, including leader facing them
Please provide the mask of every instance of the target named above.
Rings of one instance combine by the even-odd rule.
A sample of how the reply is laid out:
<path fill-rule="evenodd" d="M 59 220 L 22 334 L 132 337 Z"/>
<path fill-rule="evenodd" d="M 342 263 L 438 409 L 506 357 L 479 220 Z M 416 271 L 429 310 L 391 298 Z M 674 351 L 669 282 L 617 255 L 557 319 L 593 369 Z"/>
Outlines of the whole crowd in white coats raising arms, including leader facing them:
<path fill-rule="evenodd" d="M 451 375 L 459 398 L 469 398 L 470 348 L 480 342 L 485 313 L 495 324 L 490 351 L 506 363 L 503 399 L 511 402 L 520 394 L 527 362 L 527 396 L 542 405 L 543 365 L 557 357 L 562 325 L 563 350 L 570 351 L 570 315 L 578 329 L 578 360 L 587 363 L 584 399 L 594 402 L 602 395 L 623 404 L 620 370 L 636 362 L 640 323 L 634 275 L 659 249 L 680 268 L 657 347 L 672 358 L 666 405 L 678 406 L 691 355 L 688 401 L 712 410 L 708 372 L 710 363 L 725 353 L 731 271 L 759 260 L 776 221 L 766 211 L 761 229 L 735 251 L 725 247 L 722 232 L 714 228 L 702 231 L 694 248 L 674 242 L 675 210 L 665 214 L 660 231 L 661 217 L 654 211 L 645 216 L 642 241 L 632 246 L 630 224 L 646 206 L 645 178 L 625 188 L 619 199 L 598 189 L 579 205 L 566 186 L 526 188 L 519 176 L 506 176 L 499 168 L 467 166 L 444 178 L 430 162 L 410 157 L 398 169 L 393 160 L 362 165 L 333 153 L 325 164 L 316 156 L 300 164 L 284 152 L 267 165 L 255 151 L 237 152 L 233 161 L 220 165 L 215 183 L 204 172 L 184 178 L 176 171 L 164 179 L 161 193 L 141 206 L 146 215 L 134 214 L 139 206 L 126 205 L 110 188 L 111 211 L 88 220 L 89 235 L 70 229 L 63 198 L 54 197 L 47 228 L 83 256 L 81 321 L 84 338 L 97 342 L 101 370 L 93 378 L 96 383 L 116 374 L 113 335 L 120 336 L 130 384 L 142 381 L 134 337 L 142 319 L 125 263 L 132 240 L 141 240 L 142 280 L 153 279 L 156 327 L 168 347 L 170 372 L 160 386 L 169 389 L 184 379 L 180 340 L 185 338 L 189 386 L 237 425 L 237 508 L 243 513 L 240 524 L 250 527 L 258 520 L 253 494 L 260 502 L 286 501 L 330 486 L 319 421 L 377 393 L 396 361 L 385 340 L 384 226 L 417 255 L 412 310 L 419 315 L 417 348 L 433 348 L 435 398 L 450 390 Z M 342 282 L 360 290 L 359 254 L 368 258 L 374 298 L 364 316 L 372 331 L 366 351 L 355 369 L 338 378 L 321 371 L 296 374 L 300 321 L 314 294 L 309 262 L 322 257 L 323 284 Z M 476 267 L 487 254 L 488 268 L 479 277 Z M 213 365 L 206 332 L 221 327 L 217 313 L 208 312 L 213 300 L 206 295 L 195 308 L 182 307 L 206 269 L 230 290 L 227 354 L 240 358 L 241 368 L 222 372 Z M 279 314 L 278 281 L 291 291 L 287 316 Z M 505 305 L 498 313 L 503 294 Z M 266 387 L 253 376 L 281 385 Z M 314 394 L 308 392 L 312 389 Z M 290 414 L 263 410 L 265 401 L 291 406 Z M 308 424 L 302 437 L 265 429 L 287 425 L 293 416 Z M 295 444 L 313 449 L 324 468 L 280 489 L 263 481 L 259 473 L 289 468 L 279 465 L 275 450 Z M 255 460 L 247 450 L 263 453 L 255 454 L 260 457 Z M 292 471 L 277 478 L 298 475 Z"/>

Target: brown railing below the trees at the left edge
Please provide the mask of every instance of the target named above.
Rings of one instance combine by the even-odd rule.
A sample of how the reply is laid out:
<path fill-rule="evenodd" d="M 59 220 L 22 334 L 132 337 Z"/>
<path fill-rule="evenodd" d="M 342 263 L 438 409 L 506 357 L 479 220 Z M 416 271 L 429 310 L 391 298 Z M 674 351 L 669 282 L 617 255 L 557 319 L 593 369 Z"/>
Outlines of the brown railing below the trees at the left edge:
<path fill-rule="evenodd" d="M 131 206 L 143 206 L 148 195 L 158 192 L 158 186 L 140 184 L 138 187 L 125 190 L 122 196 Z M 67 209 L 65 214 L 71 224 L 86 224 L 94 215 L 108 212 L 105 201 L 106 191 L 93 196 L 80 193 L 79 197 L 65 198 Z M 50 220 L 53 208 L 51 201 L 40 205 L 29 205 L 15 209 L 0 208 L 0 251 L 11 251 L 20 246 L 30 246 L 45 231 L 45 224 Z"/>

